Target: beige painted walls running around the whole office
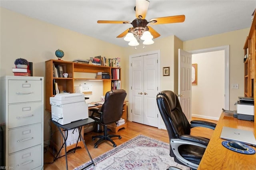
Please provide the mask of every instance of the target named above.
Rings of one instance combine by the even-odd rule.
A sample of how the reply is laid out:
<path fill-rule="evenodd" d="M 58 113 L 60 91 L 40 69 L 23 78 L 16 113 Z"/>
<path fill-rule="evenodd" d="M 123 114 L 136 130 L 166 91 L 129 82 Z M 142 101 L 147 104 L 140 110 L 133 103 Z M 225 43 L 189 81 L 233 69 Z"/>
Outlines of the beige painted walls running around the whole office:
<path fill-rule="evenodd" d="M 139 45 L 134 49 L 130 46 L 124 48 L 106 43 L 4 8 L 0 8 L 0 20 L 0 76 L 13 75 L 11 68 L 14 67 L 14 60 L 22 57 L 34 63 L 34 76 L 45 77 L 45 61 L 57 59 L 54 52 L 59 48 L 65 52 L 63 60 L 66 61 L 88 59 L 96 55 L 107 58 L 121 57 L 122 88 L 129 92 L 129 56 L 160 50 L 160 90 L 173 90 L 177 93 L 178 48 L 183 47 L 184 50 L 190 51 L 230 45 L 230 85 L 240 85 L 238 91 L 230 89 L 230 105 L 233 105 L 238 95 L 243 95 L 243 45 L 249 28 L 186 42 L 176 36 L 160 37 L 154 40 L 154 44 L 146 45 L 146 48 Z M 162 76 L 162 67 L 170 67 L 170 76 Z M 47 133 L 50 113 L 45 113 L 44 117 L 44 129 Z M 47 139 L 48 135 L 45 134 L 45 140 Z"/>

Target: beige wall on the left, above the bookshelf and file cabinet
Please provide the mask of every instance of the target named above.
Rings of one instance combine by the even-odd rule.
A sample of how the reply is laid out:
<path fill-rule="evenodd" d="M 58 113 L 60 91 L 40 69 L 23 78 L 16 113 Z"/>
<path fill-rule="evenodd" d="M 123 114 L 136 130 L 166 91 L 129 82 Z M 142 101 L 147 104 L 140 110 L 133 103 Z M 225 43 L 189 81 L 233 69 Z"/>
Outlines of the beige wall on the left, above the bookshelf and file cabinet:
<path fill-rule="evenodd" d="M 121 67 L 125 65 L 122 47 L 106 43 L 59 26 L 48 24 L 40 20 L 28 18 L 24 15 L 0 9 L 1 48 L 0 48 L 0 76 L 13 75 L 14 60 L 25 58 L 33 62 L 34 76 L 45 77 L 45 61 L 57 59 L 56 49 L 65 53 L 65 61 L 73 59 L 89 59 L 102 55 L 107 58 L 120 57 Z M 126 75 L 122 69 L 122 75 Z M 126 76 L 122 83 L 126 84 Z M 128 82 L 128 79 L 127 79 Z M 100 95 L 101 96 L 101 95 Z M 44 140 L 49 139 L 48 121 L 51 115 L 44 113 Z"/>

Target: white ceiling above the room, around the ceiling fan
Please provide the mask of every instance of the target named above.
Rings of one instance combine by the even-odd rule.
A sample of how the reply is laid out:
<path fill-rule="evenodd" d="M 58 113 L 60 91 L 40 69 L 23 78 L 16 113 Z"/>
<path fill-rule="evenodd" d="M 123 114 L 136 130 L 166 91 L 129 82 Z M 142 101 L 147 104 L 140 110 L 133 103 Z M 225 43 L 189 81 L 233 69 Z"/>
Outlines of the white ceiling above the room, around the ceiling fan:
<path fill-rule="evenodd" d="M 182 23 L 151 25 L 161 36 L 182 41 L 249 28 L 256 0 L 149 0 L 146 20 L 182 15 Z M 0 6 L 122 47 L 116 38 L 130 24 L 97 24 L 97 20 L 134 20 L 135 0 L 0 0 Z M 150 25 L 150 24 L 149 24 Z M 157 39 L 159 39 L 157 38 Z"/>

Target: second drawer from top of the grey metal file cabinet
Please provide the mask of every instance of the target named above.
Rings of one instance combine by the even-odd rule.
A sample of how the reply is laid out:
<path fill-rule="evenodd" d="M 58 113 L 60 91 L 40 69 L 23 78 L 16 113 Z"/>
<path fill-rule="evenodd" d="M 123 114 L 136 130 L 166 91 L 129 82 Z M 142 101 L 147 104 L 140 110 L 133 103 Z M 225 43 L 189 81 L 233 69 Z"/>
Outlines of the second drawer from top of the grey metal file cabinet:
<path fill-rule="evenodd" d="M 42 102 L 9 105 L 8 128 L 41 123 L 42 107 Z"/>

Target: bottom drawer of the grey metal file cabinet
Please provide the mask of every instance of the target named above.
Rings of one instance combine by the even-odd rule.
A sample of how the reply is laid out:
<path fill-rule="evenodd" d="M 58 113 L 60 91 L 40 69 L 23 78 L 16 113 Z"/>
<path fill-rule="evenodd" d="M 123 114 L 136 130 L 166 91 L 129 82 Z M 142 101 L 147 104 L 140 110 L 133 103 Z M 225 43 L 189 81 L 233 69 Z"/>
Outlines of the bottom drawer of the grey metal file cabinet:
<path fill-rule="evenodd" d="M 32 170 L 42 166 L 42 145 L 8 156 L 9 167 L 15 170 Z"/>

